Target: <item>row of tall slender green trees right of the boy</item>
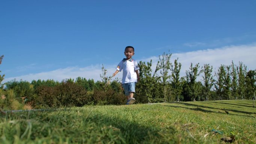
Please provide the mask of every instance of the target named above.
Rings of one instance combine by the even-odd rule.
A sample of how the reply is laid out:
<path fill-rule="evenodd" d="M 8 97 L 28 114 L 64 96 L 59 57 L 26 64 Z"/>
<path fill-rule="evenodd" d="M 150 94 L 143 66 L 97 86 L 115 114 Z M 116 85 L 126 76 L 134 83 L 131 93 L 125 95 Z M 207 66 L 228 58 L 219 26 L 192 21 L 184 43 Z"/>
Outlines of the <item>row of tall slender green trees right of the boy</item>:
<path fill-rule="evenodd" d="M 152 60 L 139 62 L 141 80 L 137 84 L 137 95 L 149 102 L 255 98 L 256 70 L 247 71 L 243 62 L 220 65 L 215 72 L 210 64 L 191 63 L 186 75 L 181 77 L 179 58 L 174 63 L 170 59 L 170 53 L 159 56 L 154 72 Z M 197 80 L 199 76 L 201 81 Z"/>

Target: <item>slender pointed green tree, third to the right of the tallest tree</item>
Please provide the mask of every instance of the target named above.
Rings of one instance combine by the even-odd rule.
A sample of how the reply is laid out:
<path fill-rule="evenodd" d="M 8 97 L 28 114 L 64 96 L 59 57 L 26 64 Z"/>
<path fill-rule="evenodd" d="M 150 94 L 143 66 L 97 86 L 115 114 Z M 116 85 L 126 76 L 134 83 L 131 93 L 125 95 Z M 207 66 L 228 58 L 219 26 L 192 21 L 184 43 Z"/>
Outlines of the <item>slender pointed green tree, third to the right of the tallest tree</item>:
<path fill-rule="evenodd" d="M 210 91 L 211 88 L 214 85 L 215 80 L 213 79 L 213 66 L 210 66 L 210 64 L 204 64 L 204 69 L 203 69 L 204 75 L 202 76 L 203 78 L 203 94 L 206 96 L 206 100 L 208 100 L 210 96 Z"/>

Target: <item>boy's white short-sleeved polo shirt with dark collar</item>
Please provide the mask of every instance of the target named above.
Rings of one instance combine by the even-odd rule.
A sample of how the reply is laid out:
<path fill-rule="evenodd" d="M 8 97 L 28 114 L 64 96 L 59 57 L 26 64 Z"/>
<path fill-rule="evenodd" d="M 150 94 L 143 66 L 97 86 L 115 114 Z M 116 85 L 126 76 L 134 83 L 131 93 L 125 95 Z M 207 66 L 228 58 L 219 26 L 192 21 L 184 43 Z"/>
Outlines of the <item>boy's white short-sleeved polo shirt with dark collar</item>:
<path fill-rule="evenodd" d="M 140 68 L 138 67 L 137 61 L 135 61 L 132 58 L 128 60 L 124 58 L 121 62 L 119 62 L 118 66 L 116 67 L 116 70 L 118 71 L 123 70 L 122 84 L 137 82 L 137 74 L 135 70 L 138 70 L 138 69 Z"/>

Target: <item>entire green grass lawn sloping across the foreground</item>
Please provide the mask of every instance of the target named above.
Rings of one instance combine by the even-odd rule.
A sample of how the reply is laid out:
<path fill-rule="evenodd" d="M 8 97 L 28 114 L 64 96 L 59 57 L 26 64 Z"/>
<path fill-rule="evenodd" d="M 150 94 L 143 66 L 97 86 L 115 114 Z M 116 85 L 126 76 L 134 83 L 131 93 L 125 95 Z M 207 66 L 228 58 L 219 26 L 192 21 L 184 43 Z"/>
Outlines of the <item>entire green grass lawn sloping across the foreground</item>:
<path fill-rule="evenodd" d="M 256 143 L 252 101 L 85 106 L 0 117 L 1 144 L 224 144 L 220 139 L 231 135 L 234 143 Z"/>

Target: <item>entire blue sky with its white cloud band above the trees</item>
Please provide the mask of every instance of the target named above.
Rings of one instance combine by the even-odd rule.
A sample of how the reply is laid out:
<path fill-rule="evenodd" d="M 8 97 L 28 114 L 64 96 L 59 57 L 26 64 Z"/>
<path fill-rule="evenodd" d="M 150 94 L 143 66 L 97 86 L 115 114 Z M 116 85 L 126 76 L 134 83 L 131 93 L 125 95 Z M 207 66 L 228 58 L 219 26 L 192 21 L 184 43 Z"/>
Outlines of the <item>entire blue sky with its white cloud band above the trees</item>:
<path fill-rule="evenodd" d="M 0 74 L 99 80 L 101 64 L 111 75 L 128 45 L 134 59 L 155 63 L 170 50 L 182 73 L 190 62 L 255 69 L 255 7 L 255 0 L 0 0 Z"/>

